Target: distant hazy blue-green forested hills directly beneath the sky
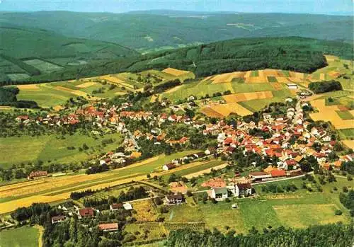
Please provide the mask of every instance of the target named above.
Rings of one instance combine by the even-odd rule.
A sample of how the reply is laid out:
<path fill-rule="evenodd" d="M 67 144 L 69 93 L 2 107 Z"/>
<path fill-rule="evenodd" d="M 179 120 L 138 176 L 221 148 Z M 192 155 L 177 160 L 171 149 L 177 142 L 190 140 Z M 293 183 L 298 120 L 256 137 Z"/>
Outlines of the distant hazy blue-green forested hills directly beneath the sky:
<path fill-rule="evenodd" d="M 115 42 L 141 51 L 261 36 L 302 36 L 347 42 L 353 40 L 353 21 L 350 16 L 309 14 L 40 11 L 0 13 L 0 23 Z"/>

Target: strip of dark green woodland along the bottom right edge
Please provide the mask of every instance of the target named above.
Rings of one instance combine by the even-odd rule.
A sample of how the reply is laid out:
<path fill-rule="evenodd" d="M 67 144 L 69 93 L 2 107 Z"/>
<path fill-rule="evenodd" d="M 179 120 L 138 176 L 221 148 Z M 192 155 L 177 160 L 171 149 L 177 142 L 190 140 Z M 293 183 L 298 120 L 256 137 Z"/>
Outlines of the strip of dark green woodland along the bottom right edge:
<path fill-rule="evenodd" d="M 328 224 L 310 226 L 307 229 L 263 229 L 259 233 L 251 229 L 248 235 L 236 235 L 229 232 L 226 235 L 219 231 L 192 231 L 181 229 L 172 231 L 169 235 L 169 247 L 348 247 L 353 245 L 353 225 Z"/>

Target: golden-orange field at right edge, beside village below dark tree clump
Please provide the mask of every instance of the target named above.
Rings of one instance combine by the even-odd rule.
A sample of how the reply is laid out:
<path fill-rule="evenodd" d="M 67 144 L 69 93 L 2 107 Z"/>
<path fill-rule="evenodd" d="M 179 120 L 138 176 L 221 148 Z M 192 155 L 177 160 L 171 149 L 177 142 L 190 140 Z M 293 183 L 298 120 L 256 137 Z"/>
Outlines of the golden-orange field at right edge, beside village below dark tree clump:
<path fill-rule="evenodd" d="M 353 128 L 353 120 L 343 120 L 339 117 L 337 110 L 338 105 L 326 105 L 324 99 L 312 100 L 311 105 L 319 110 L 318 113 L 310 113 L 310 117 L 314 121 L 331 121 L 336 129 L 350 129 Z"/>

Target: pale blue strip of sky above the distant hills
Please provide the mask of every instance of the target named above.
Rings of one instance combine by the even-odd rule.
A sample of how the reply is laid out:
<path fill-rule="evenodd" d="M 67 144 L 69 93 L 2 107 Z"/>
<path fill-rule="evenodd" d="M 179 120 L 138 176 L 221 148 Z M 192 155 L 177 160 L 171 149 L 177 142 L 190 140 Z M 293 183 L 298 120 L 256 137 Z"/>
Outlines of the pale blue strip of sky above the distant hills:
<path fill-rule="evenodd" d="M 0 11 L 114 12 L 170 9 L 353 15 L 354 0 L 0 0 Z"/>

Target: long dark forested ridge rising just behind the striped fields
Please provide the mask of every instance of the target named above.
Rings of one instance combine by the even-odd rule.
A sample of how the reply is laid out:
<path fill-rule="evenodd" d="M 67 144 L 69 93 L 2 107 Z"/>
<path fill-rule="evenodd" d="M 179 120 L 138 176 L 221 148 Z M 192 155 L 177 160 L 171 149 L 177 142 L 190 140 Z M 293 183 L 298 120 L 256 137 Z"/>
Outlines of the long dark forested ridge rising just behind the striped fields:
<path fill-rule="evenodd" d="M 214 42 L 164 52 L 94 62 L 65 71 L 13 81 L 64 81 L 68 79 L 173 67 L 192 71 L 197 77 L 229 71 L 285 69 L 311 73 L 326 66 L 323 54 L 351 59 L 353 45 L 309 38 L 249 38 Z M 10 84 L 13 84 L 11 82 Z"/>

